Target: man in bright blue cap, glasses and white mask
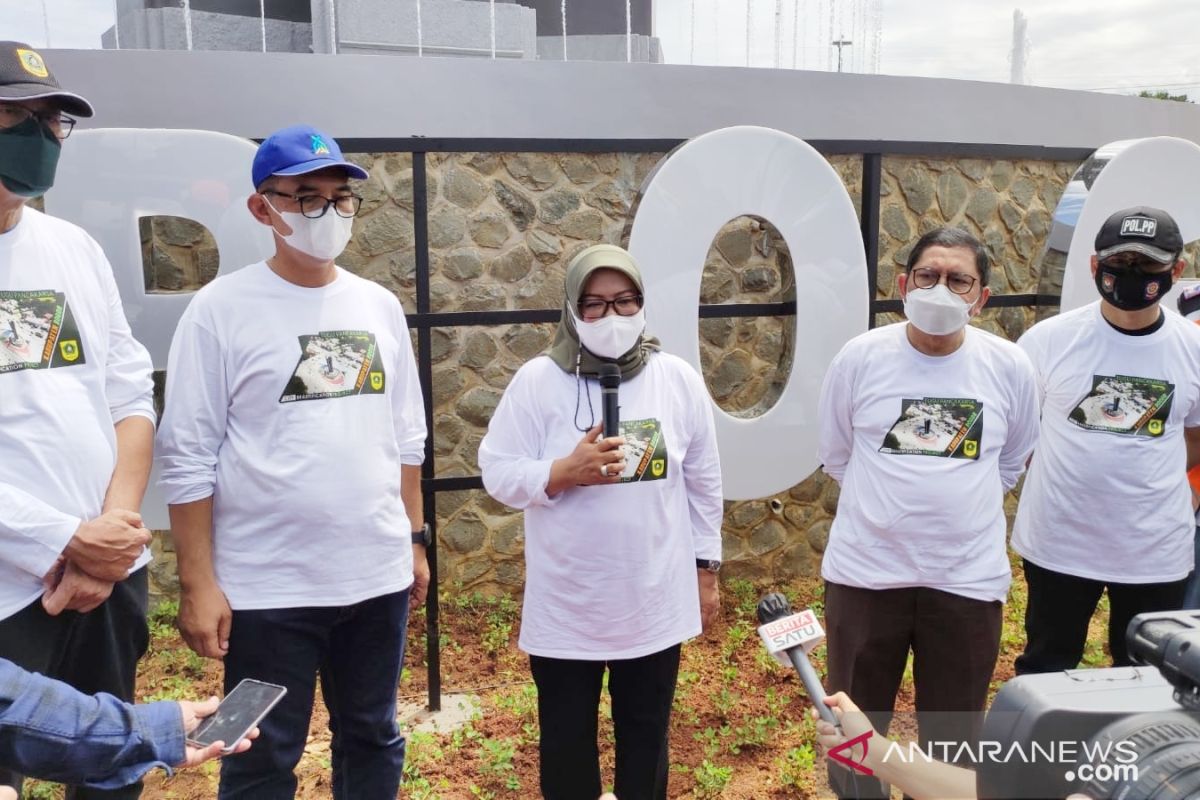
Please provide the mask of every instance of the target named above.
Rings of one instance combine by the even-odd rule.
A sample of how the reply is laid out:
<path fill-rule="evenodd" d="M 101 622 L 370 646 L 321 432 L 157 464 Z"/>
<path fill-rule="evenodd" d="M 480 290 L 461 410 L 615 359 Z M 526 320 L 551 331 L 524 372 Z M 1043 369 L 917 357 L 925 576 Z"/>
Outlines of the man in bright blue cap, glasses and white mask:
<path fill-rule="evenodd" d="M 425 601 L 425 410 L 400 301 L 338 267 L 366 170 L 308 126 L 259 146 L 247 206 L 275 253 L 197 293 L 160 437 L 179 625 L 199 655 L 287 686 L 221 798 L 292 798 L 317 675 L 332 794 L 396 796 L 396 686 Z"/>

